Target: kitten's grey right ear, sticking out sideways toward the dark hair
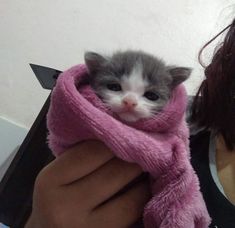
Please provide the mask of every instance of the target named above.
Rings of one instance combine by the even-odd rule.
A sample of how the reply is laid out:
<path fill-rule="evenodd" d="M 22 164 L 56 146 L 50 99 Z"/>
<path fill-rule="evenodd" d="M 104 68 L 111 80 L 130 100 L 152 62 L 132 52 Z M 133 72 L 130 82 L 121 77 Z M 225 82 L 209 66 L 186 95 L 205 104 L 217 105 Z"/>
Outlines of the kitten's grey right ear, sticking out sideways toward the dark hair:
<path fill-rule="evenodd" d="M 172 76 L 172 87 L 176 87 L 190 76 L 192 68 L 187 67 L 169 67 L 168 69 L 170 75 Z"/>

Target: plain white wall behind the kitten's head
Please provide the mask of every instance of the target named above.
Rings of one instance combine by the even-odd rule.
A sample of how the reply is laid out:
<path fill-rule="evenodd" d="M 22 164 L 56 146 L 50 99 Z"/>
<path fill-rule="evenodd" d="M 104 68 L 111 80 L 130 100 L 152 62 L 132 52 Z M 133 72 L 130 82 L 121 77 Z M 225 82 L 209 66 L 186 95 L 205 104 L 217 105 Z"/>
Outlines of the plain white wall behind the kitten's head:
<path fill-rule="evenodd" d="M 231 21 L 234 0 L 1 0 L 0 115 L 30 127 L 48 91 L 28 63 L 64 70 L 85 50 L 143 49 L 193 67 L 200 47 Z M 233 12 L 233 13 L 232 13 Z"/>

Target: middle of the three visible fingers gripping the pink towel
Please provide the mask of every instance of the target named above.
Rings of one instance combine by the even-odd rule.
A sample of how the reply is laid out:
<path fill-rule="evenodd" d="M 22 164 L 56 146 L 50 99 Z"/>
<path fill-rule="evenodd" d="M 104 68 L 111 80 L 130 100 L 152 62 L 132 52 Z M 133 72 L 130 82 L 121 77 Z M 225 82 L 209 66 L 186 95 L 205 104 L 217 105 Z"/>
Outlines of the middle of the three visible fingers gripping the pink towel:
<path fill-rule="evenodd" d="M 142 170 L 136 164 L 113 158 L 95 172 L 71 184 L 69 194 L 79 195 L 78 200 L 86 200 L 92 209 L 103 203 L 125 185 L 141 174 Z"/>

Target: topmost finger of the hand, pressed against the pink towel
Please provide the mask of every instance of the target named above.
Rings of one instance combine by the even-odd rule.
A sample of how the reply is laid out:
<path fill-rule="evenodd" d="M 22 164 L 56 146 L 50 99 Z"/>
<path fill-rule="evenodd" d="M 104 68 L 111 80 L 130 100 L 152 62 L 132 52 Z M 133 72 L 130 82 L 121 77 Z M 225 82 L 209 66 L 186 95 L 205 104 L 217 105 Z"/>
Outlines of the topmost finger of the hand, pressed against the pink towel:
<path fill-rule="evenodd" d="M 50 180 L 49 185 L 70 184 L 96 170 L 113 156 L 102 142 L 86 141 L 51 162 L 40 176 L 46 175 L 46 179 Z"/>

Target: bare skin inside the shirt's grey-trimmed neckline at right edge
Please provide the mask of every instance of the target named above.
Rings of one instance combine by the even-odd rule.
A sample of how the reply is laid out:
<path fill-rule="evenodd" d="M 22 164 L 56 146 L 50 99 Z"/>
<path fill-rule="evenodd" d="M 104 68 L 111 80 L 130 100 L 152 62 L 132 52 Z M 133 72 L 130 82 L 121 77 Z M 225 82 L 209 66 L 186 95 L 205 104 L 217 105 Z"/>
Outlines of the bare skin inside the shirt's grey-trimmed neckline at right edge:
<path fill-rule="evenodd" d="M 225 195 L 235 205 L 235 150 L 227 149 L 221 135 L 216 138 L 216 166 Z"/>

